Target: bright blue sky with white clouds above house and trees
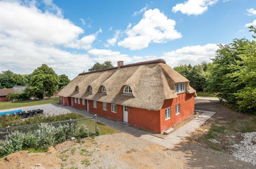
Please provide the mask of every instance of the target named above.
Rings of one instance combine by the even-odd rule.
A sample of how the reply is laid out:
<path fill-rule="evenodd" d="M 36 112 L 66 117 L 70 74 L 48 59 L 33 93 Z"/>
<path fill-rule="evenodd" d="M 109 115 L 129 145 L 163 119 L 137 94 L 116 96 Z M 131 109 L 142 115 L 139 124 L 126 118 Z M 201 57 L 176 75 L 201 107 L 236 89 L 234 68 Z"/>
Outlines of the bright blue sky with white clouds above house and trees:
<path fill-rule="evenodd" d="M 255 16 L 252 0 L 0 1 L 0 71 L 45 63 L 72 79 L 105 60 L 209 62 L 216 44 L 252 39 Z"/>

